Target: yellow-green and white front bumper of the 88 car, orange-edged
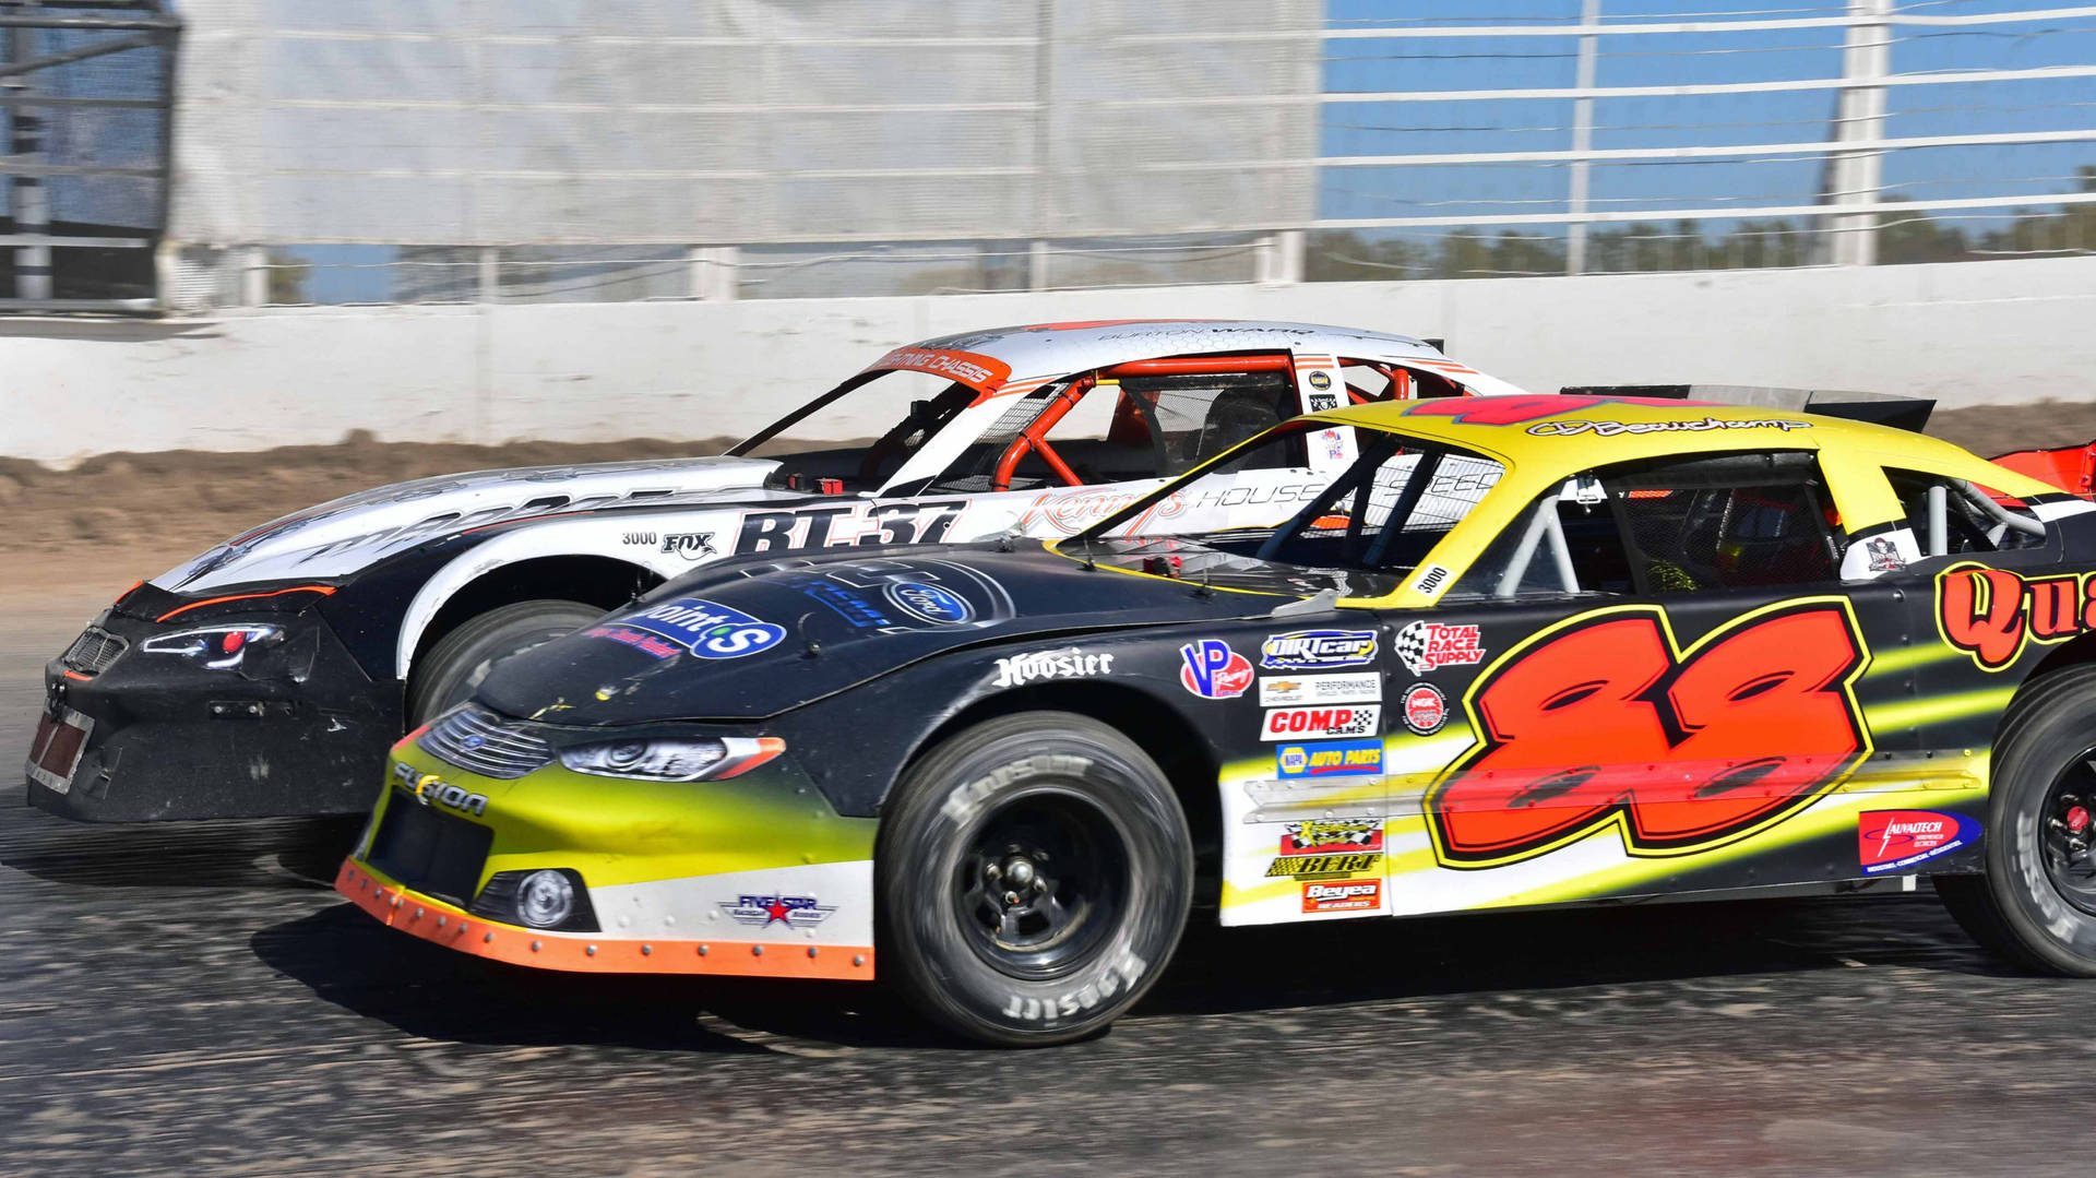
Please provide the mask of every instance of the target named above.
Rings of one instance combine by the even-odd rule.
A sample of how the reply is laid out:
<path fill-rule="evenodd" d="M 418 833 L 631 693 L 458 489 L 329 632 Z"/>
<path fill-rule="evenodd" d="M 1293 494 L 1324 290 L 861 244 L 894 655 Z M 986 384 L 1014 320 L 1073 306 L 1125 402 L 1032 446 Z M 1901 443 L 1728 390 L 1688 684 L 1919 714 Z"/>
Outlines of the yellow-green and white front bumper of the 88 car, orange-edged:
<path fill-rule="evenodd" d="M 870 981 L 874 820 L 840 817 L 792 757 L 723 782 L 553 761 L 516 780 L 398 742 L 335 891 L 388 926 L 509 964 Z M 616 732 L 602 734 L 616 738 Z M 574 910 L 532 926 L 520 880 Z"/>

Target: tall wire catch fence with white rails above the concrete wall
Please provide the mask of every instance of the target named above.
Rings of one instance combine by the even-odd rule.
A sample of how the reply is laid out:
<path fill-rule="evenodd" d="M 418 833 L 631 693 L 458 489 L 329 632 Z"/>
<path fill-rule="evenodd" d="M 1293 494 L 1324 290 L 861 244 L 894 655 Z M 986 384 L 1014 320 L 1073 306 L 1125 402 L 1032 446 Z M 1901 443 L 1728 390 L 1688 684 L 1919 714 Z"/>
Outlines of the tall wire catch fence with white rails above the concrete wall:
<path fill-rule="evenodd" d="M 2096 6 L 184 0 L 180 310 L 2096 252 Z"/>

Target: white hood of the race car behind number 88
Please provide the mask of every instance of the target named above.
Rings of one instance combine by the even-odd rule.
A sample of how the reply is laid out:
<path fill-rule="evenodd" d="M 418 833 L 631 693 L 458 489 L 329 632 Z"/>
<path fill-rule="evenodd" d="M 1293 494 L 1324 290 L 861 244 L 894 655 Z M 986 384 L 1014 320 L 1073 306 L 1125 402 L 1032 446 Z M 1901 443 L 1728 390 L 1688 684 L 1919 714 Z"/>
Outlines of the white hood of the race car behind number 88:
<path fill-rule="evenodd" d="M 767 459 L 664 459 L 446 474 L 373 486 L 262 524 L 153 579 L 170 593 L 329 581 L 407 547 L 532 516 L 757 499 Z"/>

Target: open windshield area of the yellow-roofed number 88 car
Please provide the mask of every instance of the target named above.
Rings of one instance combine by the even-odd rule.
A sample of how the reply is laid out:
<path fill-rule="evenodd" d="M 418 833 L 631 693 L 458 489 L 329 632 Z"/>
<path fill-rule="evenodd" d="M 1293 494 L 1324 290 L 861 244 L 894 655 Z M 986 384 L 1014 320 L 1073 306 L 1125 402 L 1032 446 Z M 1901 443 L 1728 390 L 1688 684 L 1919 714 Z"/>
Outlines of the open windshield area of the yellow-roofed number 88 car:
<path fill-rule="evenodd" d="M 1272 451 L 1318 444 L 1318 421 L 1291 421 L 1216 465 L 1147 495 L 1063 551 L 1153 558 L 1188 545 L 1308 570 L 1398 579 L 1484 499 L 1505 467 L 1484 455 L 1383 430 L 1354 430 L 1358 457 L 1329 480 L 1264 486 Z M 1170 543 L 1165 543 L 1170 535 Z"/>

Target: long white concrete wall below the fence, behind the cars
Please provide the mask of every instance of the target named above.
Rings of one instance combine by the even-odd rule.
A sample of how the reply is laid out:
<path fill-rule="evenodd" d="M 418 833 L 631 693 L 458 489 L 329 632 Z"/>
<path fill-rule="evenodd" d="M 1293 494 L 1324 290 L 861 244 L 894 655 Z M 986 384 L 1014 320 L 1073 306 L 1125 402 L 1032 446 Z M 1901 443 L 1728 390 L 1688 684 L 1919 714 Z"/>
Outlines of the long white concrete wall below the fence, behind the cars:
<path fill-rule="evenodd" d="M 0 455 L 746 434 L 882 350 L 968 327 L 1247 317 L 1436 335 L 1532 390 L 1750 384 L 2096 396 L 2096 258 L 1065 293 L 402 306 L 0 321 Z"/>

